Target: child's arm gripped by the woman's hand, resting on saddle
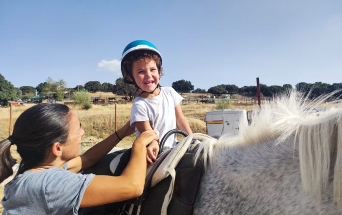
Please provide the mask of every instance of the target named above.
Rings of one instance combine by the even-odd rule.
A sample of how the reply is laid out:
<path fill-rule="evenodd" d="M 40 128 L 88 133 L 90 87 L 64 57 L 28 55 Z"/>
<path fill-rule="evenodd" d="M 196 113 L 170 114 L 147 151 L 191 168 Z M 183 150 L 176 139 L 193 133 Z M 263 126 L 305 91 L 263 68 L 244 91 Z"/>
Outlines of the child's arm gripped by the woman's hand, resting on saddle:
<path fill-rule="evenodd" d="M 144 131 L 152 130 L 150 121 L 134 122 L 134 126 L 138 129 L 140 133 Z M 151 143 L 147 147 L 146 160 L 149 163 L 153 163 L 152 160 L 157 160 L 158 152 L 159 152 L 159 142 L 155 140 L 151 141 Z"/>

